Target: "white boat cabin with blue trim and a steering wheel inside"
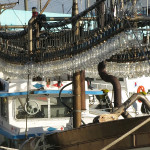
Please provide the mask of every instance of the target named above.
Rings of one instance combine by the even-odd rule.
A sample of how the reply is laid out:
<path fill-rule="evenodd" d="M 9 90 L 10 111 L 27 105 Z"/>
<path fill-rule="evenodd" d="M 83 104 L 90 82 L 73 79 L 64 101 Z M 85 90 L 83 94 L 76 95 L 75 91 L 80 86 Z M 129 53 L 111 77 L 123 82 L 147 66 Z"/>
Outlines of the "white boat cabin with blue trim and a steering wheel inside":
<path fill-rule="evenodd" d="M 51 81 L 49 84 L 30 81 L 29 90 L 26 81 L 8 83 L 1 80 L 1 83 L 5 87 L 0 93 L 1 145 L 19 148 L 30 137 L 73 128 L 72 112 L 67 108 L 73 107 L 72 85 L 61 92 L 61 100 L 59 97 L 60 88 L 71 81 L 63 81 L 60 85 L 58 81 Z M 88 123 L 96 116 L 89 113 L 89 96 L 101 95 L 103 92 L 86 88 L 85 94 L 87 115 L 83 114 L 82 119 Z M 28 98 L 30 103 L 27 104 Z"/>

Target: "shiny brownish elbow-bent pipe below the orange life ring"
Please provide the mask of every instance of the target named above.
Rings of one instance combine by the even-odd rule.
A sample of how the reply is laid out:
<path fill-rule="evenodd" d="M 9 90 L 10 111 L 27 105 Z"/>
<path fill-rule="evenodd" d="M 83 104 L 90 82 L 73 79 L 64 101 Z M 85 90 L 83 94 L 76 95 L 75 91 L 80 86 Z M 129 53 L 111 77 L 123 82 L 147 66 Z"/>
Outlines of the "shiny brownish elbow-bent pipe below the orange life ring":
<path fill-rule="evenodd" d="M 127 108 L 129 108 L 136 100 L 142 101 L 147 108 L 150 110 L 150 102 L 147 99 L 146 96 L 140 94 L 140 93 L 135 93 L 133 94 L 127 101 L 125 101 L 117 110 L 113 112 L 113 114 L 117 114 L 120 116 L 122 113 L 125 112 Z"/>

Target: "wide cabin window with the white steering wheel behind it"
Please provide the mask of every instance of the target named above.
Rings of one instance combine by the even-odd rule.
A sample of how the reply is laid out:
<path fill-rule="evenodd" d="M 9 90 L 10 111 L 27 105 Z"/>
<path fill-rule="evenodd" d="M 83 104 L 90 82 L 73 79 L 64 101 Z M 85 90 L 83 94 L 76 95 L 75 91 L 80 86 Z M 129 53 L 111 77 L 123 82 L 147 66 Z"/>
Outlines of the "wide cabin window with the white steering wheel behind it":
<path fill-rule="evenodd" d="M 72 108 L 72 97 L 62 97 L 62 102 Z M 37 113 L 34 112 L 38 110 Z M 28 113 L 26 113 L 26 111 Z M 58 97 L 32 97 L 26 105 L 26 98 L 17 98 L 15 100 L 15 117 L 16 119 L 25 119 L 26 114 L 28 118 L 58 118 L 69 117 L 70 113 Z"/>

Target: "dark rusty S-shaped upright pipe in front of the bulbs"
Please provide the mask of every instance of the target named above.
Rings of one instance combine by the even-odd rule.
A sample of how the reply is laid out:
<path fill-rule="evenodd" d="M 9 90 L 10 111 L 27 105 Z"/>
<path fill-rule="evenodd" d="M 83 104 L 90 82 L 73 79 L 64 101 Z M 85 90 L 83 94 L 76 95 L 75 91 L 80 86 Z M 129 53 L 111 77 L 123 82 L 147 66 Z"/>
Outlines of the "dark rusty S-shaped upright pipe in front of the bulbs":
<path fill-rule="evenodd" d="M 98 72 L 102 80 L 105 82 L 110 82 L 113 85 L 113 90 L 114 90 L 114 107 L 119 107 L 121 105 L 121 85 L 119 80 L 113 76 L 109 75 L 106 70 L 106 63 L 100 62 L 98 64 Z"/>

